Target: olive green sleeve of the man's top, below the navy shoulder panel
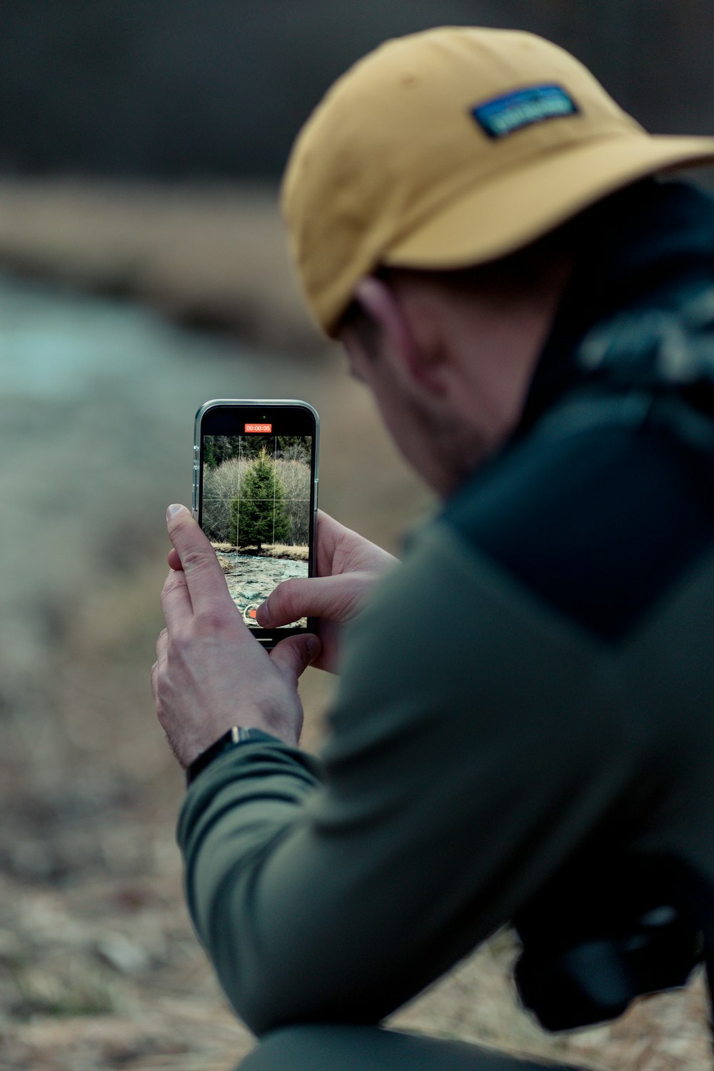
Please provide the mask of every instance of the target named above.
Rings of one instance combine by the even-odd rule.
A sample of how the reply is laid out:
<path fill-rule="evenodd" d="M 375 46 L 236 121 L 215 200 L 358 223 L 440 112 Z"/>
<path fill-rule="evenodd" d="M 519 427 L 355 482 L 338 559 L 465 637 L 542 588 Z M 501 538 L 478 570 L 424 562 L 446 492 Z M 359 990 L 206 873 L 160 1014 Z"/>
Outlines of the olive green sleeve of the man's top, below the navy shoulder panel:
<path fill-rule="evenodd" d="M 701 612 L 713 578 L 683 598 Z M 188 790 L 188 906 L 253 1030 L 380 1020 L 589 843 L 682 847 L 714 746 L 681 782 L 659 625 L 623 658 L 435 524 L 351 631 L 321 757 L 246 743 Z"/>

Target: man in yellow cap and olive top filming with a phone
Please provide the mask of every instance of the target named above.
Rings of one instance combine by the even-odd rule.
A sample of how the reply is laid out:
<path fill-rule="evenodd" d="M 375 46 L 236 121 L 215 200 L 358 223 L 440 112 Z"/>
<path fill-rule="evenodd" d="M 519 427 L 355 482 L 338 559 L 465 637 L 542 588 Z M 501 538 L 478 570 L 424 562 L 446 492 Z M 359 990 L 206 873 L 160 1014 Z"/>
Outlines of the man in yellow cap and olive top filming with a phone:
<path fill-rule="evenodd" d="M 552 1026 L 698 957 L 714 209 L 650 176 L 712 157 L 556 46 L 483 29 L 388 43 L 301 134 L 284 205 L 312 312 L 444 508 L 398 568 L 321 515 L 318 577 L 259 612 L 318 638 L 272 657 L 169 508 L 153 687 L 199 770 L 188 905 L 263 1039 L 246 1069 L 512 1067 L 377 1025 L 508 920 Z M 320 758 L 298 746 L 309 662 L 340 672 Z"/>

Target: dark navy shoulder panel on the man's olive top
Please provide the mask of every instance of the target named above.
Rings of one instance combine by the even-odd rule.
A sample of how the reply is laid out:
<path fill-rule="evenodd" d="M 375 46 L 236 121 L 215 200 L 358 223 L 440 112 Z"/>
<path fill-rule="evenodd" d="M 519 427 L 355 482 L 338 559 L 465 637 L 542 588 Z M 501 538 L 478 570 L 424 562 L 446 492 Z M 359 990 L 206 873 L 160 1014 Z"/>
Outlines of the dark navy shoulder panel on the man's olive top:
<path fill-rule="evenodd" d="M 618 640 L 714 540 L 701 463 L 663 428 L 537 434 L 444 519 L 571 620 Z"/>

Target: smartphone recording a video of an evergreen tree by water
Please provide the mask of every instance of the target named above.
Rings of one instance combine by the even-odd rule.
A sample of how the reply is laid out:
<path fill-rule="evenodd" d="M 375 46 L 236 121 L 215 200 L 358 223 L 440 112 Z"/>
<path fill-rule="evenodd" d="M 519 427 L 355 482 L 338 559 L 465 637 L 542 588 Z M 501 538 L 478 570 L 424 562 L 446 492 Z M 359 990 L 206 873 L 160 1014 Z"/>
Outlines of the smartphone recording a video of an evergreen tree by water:
<path fill-rule="evenodd" d="M 283 580 L 312 576 L 320 420 L 307 402 L 219 398 L 196 413 L 193 511 L 243 620 L 267 648 L 313 632 L 313 618 L 261 629 L 256 610 Z"/>

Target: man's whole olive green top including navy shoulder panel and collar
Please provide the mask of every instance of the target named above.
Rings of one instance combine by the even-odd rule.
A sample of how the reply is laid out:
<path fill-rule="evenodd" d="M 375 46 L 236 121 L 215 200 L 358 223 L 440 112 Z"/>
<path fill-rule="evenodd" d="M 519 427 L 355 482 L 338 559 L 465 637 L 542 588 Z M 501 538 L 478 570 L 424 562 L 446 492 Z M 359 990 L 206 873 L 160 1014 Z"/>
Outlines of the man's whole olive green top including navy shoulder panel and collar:
<path fill-rule="evenodd" d="M 712 235 L 711 198 L 654 182 L 590 235 L 521 427 L 348 628 L 319 758 L 245 743 L 189 788 L 189 910 L 257 1034 L 381 1020 L 564 874 L 574 919 L 603 895 L 612 915 L 623 854 L 714 888 L 712 450 L 649 404 L 614 413 L 634 376 L 708 419 L 711 386 L 693 383 L 711 323 L 687 328 L 684 392 L 657 331 L 679 367 L 677 311 L 714 285 Z M 578 346 L 624 306 L 595 340 L 597 380 Z M 556 414 L 548 432 L 593 382 L 611 422 Z"/>

